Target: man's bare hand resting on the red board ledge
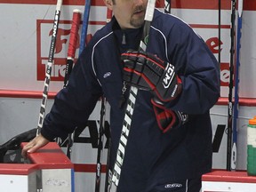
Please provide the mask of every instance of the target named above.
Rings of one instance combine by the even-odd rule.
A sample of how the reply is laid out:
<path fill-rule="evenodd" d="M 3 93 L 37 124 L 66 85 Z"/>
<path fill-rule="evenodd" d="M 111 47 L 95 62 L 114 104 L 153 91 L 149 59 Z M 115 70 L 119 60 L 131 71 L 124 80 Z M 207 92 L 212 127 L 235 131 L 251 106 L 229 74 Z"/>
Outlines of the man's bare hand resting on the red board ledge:
<path fill-rule="evenodd" d="M 24 148 L 22 148 L 21 155 L 24 158 L 27 158 L 27 153 L 34 153 L 39 148 L 43 148 L 47 143 L 49 143 L 49 140 L 46 140 L 43 135 L 39 134 L 34 138 L 33 140 L 29 141 Z"/>

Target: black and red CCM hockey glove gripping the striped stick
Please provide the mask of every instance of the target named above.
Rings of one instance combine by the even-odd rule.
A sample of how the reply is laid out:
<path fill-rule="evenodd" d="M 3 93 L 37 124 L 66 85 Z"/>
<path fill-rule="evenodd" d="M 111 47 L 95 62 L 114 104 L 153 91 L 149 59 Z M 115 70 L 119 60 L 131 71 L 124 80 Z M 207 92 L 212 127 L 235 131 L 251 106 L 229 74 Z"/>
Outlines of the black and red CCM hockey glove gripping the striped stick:
<path fill-rule="evenodd" d="M 171 63 L 148 52 L 128 51 L 121 55 L 124 81 L 143 90 L 153 91 L 164 102 L 175 99 L 181 92 L 181 79 Z"/>

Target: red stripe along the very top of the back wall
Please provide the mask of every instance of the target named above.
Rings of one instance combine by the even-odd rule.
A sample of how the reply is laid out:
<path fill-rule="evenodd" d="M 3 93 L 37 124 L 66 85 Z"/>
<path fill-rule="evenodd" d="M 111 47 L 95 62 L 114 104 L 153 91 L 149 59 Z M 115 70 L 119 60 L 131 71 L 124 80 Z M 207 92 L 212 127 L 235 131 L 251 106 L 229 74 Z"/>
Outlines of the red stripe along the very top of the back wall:
<path fill-rule="evenodd" d="M 56 4 L 57 0 L 0 0 L 0 4 Z M 84 5 L 85 0 L 64 0 L 64 5 Z M 102 0 L 92 0 L 92 5 L 105 6 Z M 230 9 L 231 0 L 221 1 L 221 9 Z M 159 7 L 164 7 L 164 0 L 160 0 Z M 172 8 L 181 9 L 212 9 L 217 10 L 219 0 L 177 0 L 172 1 Z M 245 11 L 256 11 L 255 0 L 244 0 Z"/>

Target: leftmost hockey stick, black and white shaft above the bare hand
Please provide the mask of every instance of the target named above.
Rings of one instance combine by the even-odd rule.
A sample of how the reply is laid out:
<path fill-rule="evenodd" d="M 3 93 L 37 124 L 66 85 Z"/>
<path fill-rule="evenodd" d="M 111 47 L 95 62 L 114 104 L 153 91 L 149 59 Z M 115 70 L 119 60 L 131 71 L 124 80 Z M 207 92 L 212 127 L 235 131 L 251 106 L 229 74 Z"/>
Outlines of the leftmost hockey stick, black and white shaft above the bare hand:
<path fill-rule="evenodd" d="M 51 81 L 52 64 L 53 64 L 54 51 L 55 51 L 55 44 L 56 44 L 56 39 L 57 39 L 56 36 L 57 36 L 58 28 L 59 28 L 61 5 L 62 5 L 62 0 L 58 0 L 56 10 L 55 10 L 55 15 L 54 15 L 54 21 L 53 21 L 52 39 L 51 39 L 49 57 L 48 57 L 47 68 L 46 68 L 45 79 L 44 79 L 43 100 L 42 100 L 41 106 L 40 106 L 40 113 L 39 113 L 39 120 L 38 120 L 38 124 L 37 124 L 36 135 L 38 135 L 40 133 L 41 128 L 43 127 L 43 122 L 44 122 L 45 107 L 46 107 L 47 98 L 48 98 L 49 84 Z"/>

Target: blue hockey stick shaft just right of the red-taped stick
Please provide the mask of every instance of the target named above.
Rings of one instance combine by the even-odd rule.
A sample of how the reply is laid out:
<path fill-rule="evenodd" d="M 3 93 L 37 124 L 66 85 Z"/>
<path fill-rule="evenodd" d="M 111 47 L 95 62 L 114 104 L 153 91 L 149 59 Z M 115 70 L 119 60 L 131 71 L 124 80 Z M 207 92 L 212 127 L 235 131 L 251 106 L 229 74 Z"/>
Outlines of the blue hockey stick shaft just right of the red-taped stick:
<path fill-rule="evenodd" d="M 91 9 L 91 0 L 85 0 L 84 4 L 84 18 L 83 18 L 83 26 L 81 32 L 81 39 L 80 39 L 80 47 L 79 47 L 79 55 L 83 52 L 85 44 L 86 44 L 86 36 L 87 36 L 87 29 L 89 25 L 89 15 Z"/>

